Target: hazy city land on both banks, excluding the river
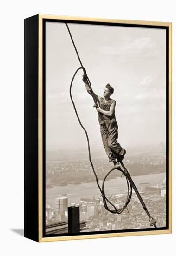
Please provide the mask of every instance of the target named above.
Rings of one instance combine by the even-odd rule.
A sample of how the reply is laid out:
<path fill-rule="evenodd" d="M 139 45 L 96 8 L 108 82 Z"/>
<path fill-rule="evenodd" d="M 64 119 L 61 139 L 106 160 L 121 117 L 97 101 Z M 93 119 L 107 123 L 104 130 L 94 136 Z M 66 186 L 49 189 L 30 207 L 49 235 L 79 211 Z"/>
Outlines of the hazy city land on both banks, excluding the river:
<path fill-rule="evenodd" d="M 137 176 L 165 173 L 165 162 L 164 155 L 155 155 L 131 157 L 126 159 L 124 164 L 130 171 L 131 176 Z M 93 163 L 99 180 L 103 179 L 107 170 L 112 168 L 111 164 L 104 159 L 96 159 Z M 121 175 L 119 172 L 114 172 L 109 179 L 116 179 L 119 175 Z M 158 183 L 156 180 L 153 185 L 150 182 L 141 182 L 137 187 L 150 215 L 156 219 L 157 227 L 166 226 L 166 180 L 165 175 L 163 176 L 162 182 Z M 79 206 L 80 221 L 86 221 L 86 232 L 150 228 L 148 216 L 134 191 L 128 208 L 120 215 L 111 214 L 105 210 L 102 198 L 99 196 L 90 197 L 87 195 L 84 198 L 80 194 L 79 200 L 77 199 L 75 202 L 73 199 L 70 200 L 67 193 L 60 193 L 52 203 L 47 202 L 47 194 L 50 194 L 50 189 L 57 186 L 65 187 L 66 192 L 68 184 L 79 186 L 83 181 L 87 183 L 95 182 L 95 177 L 87 160 L 47 162 L 46 225 L 55 222 L 66 222 L 67 207 L 76 205 Z M 124 187 L 117 194 L 109 193 L 106 195 L 117 209 L 122 208 L 126 202 L 126 189 Z M 84 230 L 81 232 L 84 232 Z"/>

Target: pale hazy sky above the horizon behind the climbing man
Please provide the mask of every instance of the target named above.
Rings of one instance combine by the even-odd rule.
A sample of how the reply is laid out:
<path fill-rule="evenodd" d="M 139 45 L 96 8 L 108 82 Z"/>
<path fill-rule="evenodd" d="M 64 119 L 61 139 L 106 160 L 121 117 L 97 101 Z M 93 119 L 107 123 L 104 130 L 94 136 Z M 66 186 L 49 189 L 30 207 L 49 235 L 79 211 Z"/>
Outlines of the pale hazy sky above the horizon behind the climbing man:
<path fill-rule="evenodd" d="M 165 142 L 166 31 L 136 27 L 68 24 L 94 92 L 110 83 L 116 100 L 118 141 L 124 148 Z M 69 96 L 80 67 L 65 23 L 46 23 L 46 150 L 86 149 Z M 73 99 L 91 148 L 103 148 L 98 113 L 79 71 Z M 104 148 L 103 148 L 104 150 Z"/>

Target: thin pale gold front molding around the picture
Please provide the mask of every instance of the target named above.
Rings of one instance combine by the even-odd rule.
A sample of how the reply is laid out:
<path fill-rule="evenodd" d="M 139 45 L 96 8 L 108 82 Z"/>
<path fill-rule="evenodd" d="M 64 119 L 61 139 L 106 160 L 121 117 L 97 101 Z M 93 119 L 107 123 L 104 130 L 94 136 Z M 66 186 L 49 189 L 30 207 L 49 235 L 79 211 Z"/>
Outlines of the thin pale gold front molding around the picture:
<path fill-rule="evenodd" d="M 137 231 L 137 232 L 124 232 L 124 233 L 110 233 L 110 234 L 94 234 L 94 235 L 79 235 L 79 236 L 54 236 L 43 237 L 42 236 L 42 35 L 43 19 L 56 19 L 56 20 L 79 20 L 79 21 L 97 21 L 97 22 L 109 22 L 109 23 L 124 23 L 124 24 L 137 24 L 137 25 L 153 25 L 163 26 L 169 28 L 169 229 L 167 230 L 151 230 L 151 231 Z M 103 237 L 118 237 L 118 236 L 141 236 L 141 235 L 156 235 L 156 234 L 169 234 L 172 233 L 172 23 L 171 22 L 156 22 L 156 21 L 141 21 L 141 20 L 116 20 L 116 19 L 102 19 L 102 18 L 88 18 L 88 17 L 74 17 L 74 16 L 58 16 L 58 15 L 46 15 L 39 14 L 39 242 L 49 241 L 62 241 L 62 240 L 78 240 L 78 239 L 91 239 L 91 238 L 103 238 Z"/>

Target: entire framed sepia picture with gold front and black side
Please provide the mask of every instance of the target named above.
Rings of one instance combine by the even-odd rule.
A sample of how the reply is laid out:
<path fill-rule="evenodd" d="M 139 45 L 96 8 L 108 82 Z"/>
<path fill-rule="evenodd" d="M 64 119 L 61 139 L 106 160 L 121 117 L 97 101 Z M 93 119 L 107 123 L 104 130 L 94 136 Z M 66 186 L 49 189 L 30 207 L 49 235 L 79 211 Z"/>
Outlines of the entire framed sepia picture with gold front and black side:
<path fill-rule="evenodd" d="M 171 233 L 171 23 L 24 24 L 25 237 Z"/>

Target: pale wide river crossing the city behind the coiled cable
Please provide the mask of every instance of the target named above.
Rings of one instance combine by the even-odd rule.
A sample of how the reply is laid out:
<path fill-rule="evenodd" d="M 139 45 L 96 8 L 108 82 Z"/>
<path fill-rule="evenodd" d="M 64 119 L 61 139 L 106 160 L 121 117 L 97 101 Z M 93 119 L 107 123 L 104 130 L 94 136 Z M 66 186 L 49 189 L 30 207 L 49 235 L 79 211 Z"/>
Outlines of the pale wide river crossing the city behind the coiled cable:
<path fill-rule="evenodd" d="M 145 186 L 153 186 L 156 184 L 161 184 L 165 179 L 165 173 L 150 174 L 133 176 L 132 179 L 138 189 L 144 189 Z M 149 184 L 139 184 L 149 182 Z M 100 185 L 102 181 L 99 182 Z M 118 194 L 124 192 L 127 189 L 125 177 L 117 177 L 106 181 L 105 183 L 105 193 L 106 194 Z M 98 189 L 96 182 L 81 183 L 81 184 L 68 184 L 64 187 L 53 186 L 53 188 L 46 189 L 46 203 L 54 206 L 54 201 L 56 197 L 60 194 L 67 194 L 68 204 L 78 203 L 80 198 L 93 198 L 93 196 L 100 196 L 101 193 Z"/>

